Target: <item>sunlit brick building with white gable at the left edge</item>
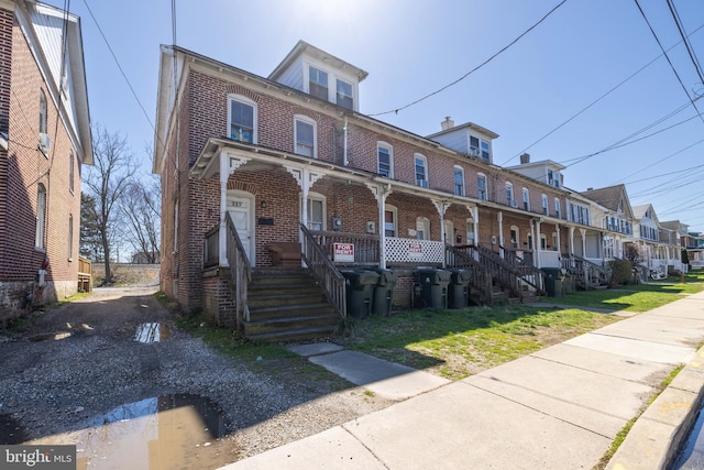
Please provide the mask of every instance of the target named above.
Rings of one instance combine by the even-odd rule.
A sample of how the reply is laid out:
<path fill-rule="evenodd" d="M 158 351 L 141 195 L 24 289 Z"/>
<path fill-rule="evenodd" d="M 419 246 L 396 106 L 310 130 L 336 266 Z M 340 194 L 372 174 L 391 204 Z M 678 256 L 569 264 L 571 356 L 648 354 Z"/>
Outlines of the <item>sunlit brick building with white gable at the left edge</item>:
<path fill-rule="evenodd" d="M 80 21 L 0 0 L 0 315 L 75 294 L 92 163 Z"/>

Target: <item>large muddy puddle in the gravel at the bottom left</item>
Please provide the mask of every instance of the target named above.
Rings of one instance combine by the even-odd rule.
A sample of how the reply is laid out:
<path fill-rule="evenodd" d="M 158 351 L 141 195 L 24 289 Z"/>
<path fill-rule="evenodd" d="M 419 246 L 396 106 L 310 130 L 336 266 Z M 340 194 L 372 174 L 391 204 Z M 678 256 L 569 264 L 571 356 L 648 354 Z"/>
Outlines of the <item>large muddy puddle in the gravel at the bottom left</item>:
<path fill-rule="evenodd" d="M 228 427 L 222 411 L 206 397 L 162 395 L 32 444 L 75 444 L 77 469 L 216 469 L 237 460 L 239 448 L 220 439 Z"/>

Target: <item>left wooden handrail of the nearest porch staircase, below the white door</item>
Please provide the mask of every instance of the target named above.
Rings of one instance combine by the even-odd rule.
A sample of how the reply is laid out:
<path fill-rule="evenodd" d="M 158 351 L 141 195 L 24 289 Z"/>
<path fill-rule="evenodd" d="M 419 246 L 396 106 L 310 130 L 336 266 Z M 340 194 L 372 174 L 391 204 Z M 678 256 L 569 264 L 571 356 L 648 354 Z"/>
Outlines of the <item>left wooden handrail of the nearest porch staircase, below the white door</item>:
<path fill-rule="evenodd" d="M 246 304 L 246 291 L 252 281 L 252 264 L 244 251 L 244 245 L 230 212 L 226 214 L 227 256 L 230 275 L 234 286 L 234 315 L 238 329 L 244 328 L 244 321 L 250 320 L 250 309 Z"/>

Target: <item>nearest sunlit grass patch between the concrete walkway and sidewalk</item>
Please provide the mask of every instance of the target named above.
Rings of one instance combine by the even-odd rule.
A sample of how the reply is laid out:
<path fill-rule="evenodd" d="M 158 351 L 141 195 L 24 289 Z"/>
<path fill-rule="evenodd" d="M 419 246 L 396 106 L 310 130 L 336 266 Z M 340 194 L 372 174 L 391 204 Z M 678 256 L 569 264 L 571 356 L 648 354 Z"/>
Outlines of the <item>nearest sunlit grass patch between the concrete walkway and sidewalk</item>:
<path fill-rule="evenodd" d="M 527 306 L 409 310 L 348 325 L 343 343 L 460 380 L 619 319 L 580 309 Z"/>

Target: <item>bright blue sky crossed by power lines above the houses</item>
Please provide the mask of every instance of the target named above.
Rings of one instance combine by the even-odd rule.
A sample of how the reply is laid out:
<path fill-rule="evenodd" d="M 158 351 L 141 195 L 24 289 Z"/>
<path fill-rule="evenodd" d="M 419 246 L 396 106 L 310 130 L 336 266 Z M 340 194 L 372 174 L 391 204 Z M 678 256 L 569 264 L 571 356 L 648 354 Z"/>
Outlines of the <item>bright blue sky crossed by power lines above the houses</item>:
<path fill-rule="evenodd" d="M 561 0 L 175 0 L 176 43 L 251 73 L 268 76 L 298 40 L 366 72 L 360 86 L 366 114 L 402 108 L 464 74 L 508 45 Z M 704 1 L 672 0 L 704 65 Z M 563 164 L 638 134 L 689 118 L 704 85 L 681 41 L 666 0 L 638 0 L 669 53 L 661 55 L 636 0 L 566 0 L 541 24 L 487 65 L 447 90 L 377 119 L 428 135 L 450 116 L 497 134 L 494 163 Z M 64 7 L 64 2 L 48 3 Z M 74 0 L 81 18 L 91 120 L 127 135 L 144 172 L 152 124 L 122 77 L 87 6 L 107 36 L 139 101 L 154 122 L 158 46 L 170 44 L 166 0 Z M 625 84 L 590 109 L 543 135 Z M 686 92 L 685 92 L 686 90 Z M 689 97 L 688 97 L 689 94 Z M 701 102 L 701 103 L 700 103 Z M 704 99 L 697 102 L 704 111 Z M 528 149 L 529 147 L 529 149 Z M 689 149 L 688 149 L 689 147 Z M 526 150 L 527 149 L 527 150 Z M 679 153 L 678 153 L 679 152 Z M 676 153 L 676 154 L 675 154 Z M 698 166 L 698 167 L 697 167 Z M 679 172 L 679 173 L 675 173 Z M 626 183 L 632 205 L 652 204 L 661 221 L 704 231 L 704 118 L 569 166 L 576 190 Z"/>

